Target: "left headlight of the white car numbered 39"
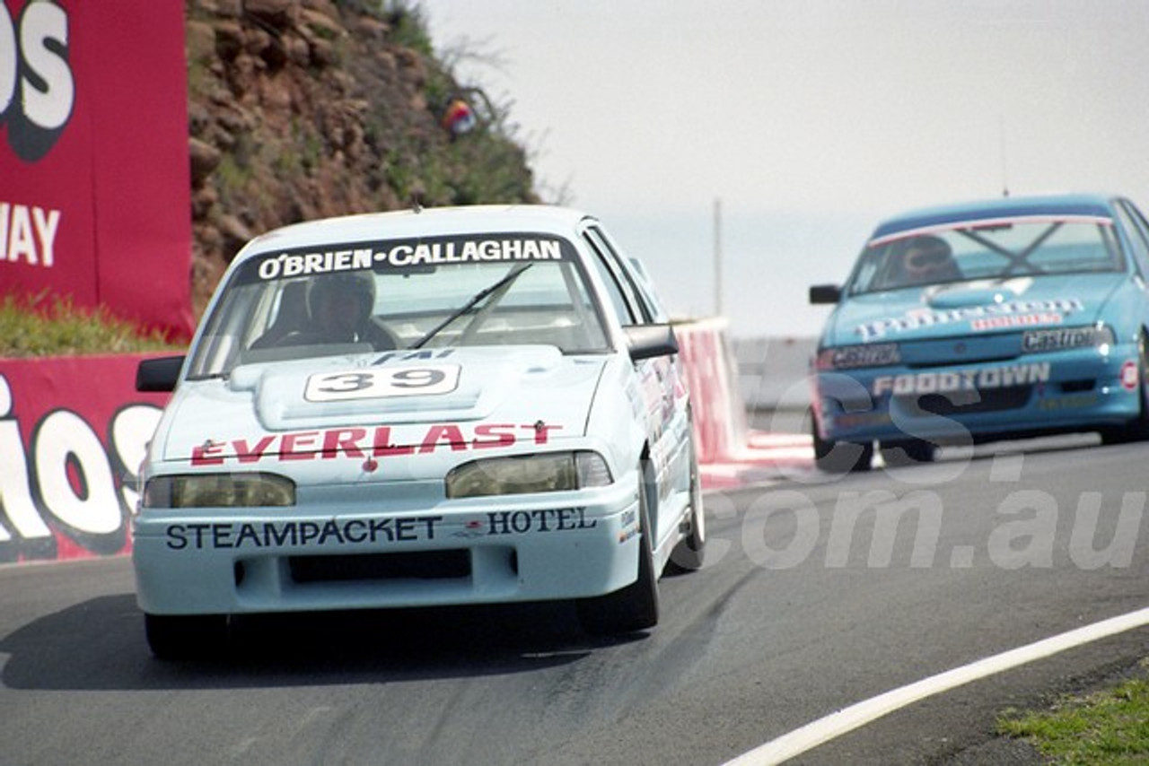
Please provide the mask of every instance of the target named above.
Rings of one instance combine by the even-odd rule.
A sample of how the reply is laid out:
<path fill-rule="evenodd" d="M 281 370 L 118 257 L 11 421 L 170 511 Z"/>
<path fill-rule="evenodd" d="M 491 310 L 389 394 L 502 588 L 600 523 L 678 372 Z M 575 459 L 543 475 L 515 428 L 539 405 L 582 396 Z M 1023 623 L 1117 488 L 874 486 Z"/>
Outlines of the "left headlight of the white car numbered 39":
<path fill-rule="evenodd" d="M 194 473 L 154 477 L 144 508 L 260 508 L 294 505 L 295 482 L 273 473 Z"/>

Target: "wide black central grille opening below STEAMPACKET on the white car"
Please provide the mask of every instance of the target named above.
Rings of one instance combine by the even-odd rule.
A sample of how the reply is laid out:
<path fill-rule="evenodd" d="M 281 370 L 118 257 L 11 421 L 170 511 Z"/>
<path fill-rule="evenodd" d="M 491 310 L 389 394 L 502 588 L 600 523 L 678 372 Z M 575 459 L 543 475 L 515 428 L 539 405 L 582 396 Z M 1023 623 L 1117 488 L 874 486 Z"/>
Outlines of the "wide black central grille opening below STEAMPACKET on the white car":
<path fill-rule="evenodd" d="M 455 580 L 471 575 L 471 556 L 463 549 L 349 556 L 292 556 L 294 582 L 350 580 Z"/>

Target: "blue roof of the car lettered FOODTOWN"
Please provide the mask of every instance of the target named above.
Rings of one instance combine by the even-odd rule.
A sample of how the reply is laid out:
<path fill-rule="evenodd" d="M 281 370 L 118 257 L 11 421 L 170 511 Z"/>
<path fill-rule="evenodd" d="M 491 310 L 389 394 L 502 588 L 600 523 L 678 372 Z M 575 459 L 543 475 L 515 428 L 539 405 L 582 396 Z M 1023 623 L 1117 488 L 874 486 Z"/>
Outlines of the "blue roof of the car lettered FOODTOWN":
<path fill-rule="evenodd" d="M 905 231 L 943 226 L 961 220 L 1016 218 L 1023 216 L 1089 216 L 1111 218 L 1110 200 L 1104 194 L 1048 194 L 1040 196 L 1001 196 L 976 202 L 909 210 L 887 218 L 871 239 L 881 239 Z"/>

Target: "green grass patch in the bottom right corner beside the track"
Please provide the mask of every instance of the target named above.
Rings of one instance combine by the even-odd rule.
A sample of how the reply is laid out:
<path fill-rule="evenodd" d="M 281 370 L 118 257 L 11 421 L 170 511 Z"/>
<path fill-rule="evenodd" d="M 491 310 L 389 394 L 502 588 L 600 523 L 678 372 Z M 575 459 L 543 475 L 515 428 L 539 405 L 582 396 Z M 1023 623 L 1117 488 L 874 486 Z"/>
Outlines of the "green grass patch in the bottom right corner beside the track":
<path fill-rule="evenodd" d="M 1146 665 L 1144 663 L 1142 665 Z M 1054 764 L 1149 763 L 1149 679 L 1062 699 L 1049 711 L 1007 711 L 998 730 L 1030 741 Z"/>

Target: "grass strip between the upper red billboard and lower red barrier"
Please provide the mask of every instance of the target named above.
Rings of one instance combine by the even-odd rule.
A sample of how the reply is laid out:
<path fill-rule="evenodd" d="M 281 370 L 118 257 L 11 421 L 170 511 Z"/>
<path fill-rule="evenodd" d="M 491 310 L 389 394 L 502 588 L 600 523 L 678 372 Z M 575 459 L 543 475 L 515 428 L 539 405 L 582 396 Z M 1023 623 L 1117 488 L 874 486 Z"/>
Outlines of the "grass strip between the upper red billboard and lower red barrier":
<path fill-rule="evenodd" d="M 0 300 L 0 357 L 138 354 L 182 350 L 161 332 L 141 333 L 106 308 L 83 309 L 61 297 Z"/>

